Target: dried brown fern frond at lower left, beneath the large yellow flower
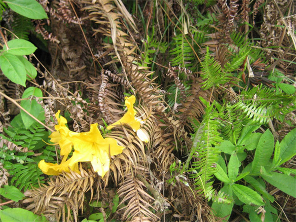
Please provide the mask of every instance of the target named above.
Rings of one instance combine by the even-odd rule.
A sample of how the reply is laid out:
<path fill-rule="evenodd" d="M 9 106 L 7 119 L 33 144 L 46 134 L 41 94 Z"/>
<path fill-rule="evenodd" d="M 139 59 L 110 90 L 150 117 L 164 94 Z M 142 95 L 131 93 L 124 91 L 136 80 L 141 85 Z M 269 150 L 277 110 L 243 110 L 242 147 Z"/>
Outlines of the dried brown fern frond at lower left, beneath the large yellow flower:
<path fill-rule="evenodd" d="M 98 183 L 95 172 L 82 169 L 81 174 L 71 172 L 51 178 L 48 185 L 42 184 L 37 189 L 27 190 L 27 199 L 23 203 L 30 203 L 28 210 L 33 210 L 38 215 L 44 215 L 51 220 L 77 222 L 78 211 L 83 212 L 85 193 L 90 191 L 90 200 L 94 195 L 93 185 Z M 73 217 L 72 218 L 72 214 Z M 66 218 L 67 214 L 67 218 Z"/>

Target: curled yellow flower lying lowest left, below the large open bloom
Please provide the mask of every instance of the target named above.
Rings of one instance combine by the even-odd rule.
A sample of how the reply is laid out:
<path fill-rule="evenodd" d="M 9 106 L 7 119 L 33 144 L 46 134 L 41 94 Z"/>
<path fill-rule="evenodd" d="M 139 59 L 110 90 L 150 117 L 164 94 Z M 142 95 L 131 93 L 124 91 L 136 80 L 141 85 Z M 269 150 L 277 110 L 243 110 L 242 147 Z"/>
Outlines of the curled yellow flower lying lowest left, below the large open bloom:
<path fill-rule="evenodd" d="M 53 164 L 53 163 L 45 163 L 44 159 L 42 159 L 38 163 L 38 167 L 41 169 L 41 171 L 44 174 L 47 174 L 47 175 L 59 175 L 63 171 L 70 172 L 69 167 L 74 172 L 80 173 L 80 171 L 78 170 L 78 163 L 75 163 L 72 166 L 70 166 L 69 163 L 71 161 L 71 158 L 67 161 L 65 161 L 65 160 L 66 160 L 66 158 L 64 157 L 61 164 L 57 164 L 57 163 Z"/>

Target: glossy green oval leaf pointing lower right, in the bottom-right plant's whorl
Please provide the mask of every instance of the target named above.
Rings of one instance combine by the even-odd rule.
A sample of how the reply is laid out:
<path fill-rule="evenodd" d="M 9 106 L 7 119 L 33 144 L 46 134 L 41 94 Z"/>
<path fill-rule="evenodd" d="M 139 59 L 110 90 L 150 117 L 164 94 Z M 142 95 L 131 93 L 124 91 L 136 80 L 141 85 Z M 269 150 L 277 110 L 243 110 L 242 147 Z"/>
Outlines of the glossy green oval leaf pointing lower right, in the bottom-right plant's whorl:
<path fill-rule="evenodd" d="M 235 195 L 238 197 L 240 201 L 242 201 L 245 204 L 251 205 L 259 205 L 263 206 L 264 202 L 262 201 L 261 196 L 254 191 L 253 189 L 239 184 L 233 184 L 232 190 L 235 193 Z"/>

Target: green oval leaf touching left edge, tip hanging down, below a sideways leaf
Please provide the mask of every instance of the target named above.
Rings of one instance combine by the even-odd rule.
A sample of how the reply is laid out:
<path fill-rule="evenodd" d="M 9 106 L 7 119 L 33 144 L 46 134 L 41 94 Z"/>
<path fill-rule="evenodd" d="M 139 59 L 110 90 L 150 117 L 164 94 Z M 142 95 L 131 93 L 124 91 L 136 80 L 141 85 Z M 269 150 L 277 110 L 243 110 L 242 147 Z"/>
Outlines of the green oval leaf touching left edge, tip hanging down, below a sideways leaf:
<path fill-rule="evenodd" d="M 0 56 L 0 67 L 3 74 L 16 84 L 26 86 L 26 69 L 15 55 L 3 53 Z"/>

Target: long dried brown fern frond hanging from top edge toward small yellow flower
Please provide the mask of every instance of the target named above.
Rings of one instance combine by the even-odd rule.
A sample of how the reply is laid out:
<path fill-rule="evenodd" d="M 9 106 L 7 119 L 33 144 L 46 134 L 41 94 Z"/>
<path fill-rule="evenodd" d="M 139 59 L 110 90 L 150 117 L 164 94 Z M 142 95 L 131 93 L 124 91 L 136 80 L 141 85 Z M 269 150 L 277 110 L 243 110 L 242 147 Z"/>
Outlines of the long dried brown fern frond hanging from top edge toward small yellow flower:
<path fill-rule="evenodd" d="M 105 49 L 110 51 L 109 55 L 112 57 L 112 60 L 105 66 L 120 64 L 125 79 L 120 82 L 124 82 L 136 91 L 146 104 L 151 106 L 158 104 L 160 96 L 157 87 L 153 85 L 153 80 L 148 78 L 152 73 L 144 67 L 135 65 L 140 58 L 136 54 L 137 44 L 132 37 L 129 37 L 131 33 L 123 23 L 127 15 L 122 14 L 122 8 L 119 10 L 115 7 L 118 2 L 113 0 L 101 0 L 95 3 L 91 0 L 84 0 L 83 2 L 86 4 L 83 10 L 89 12 L 87 18 L 98 24 L 97 28 L 94 28 L 94 35 L 100 34 L 112 39 L 112 44 L 104 43 Z M 112 78 L 119 79 L 114 75 Z"/>

